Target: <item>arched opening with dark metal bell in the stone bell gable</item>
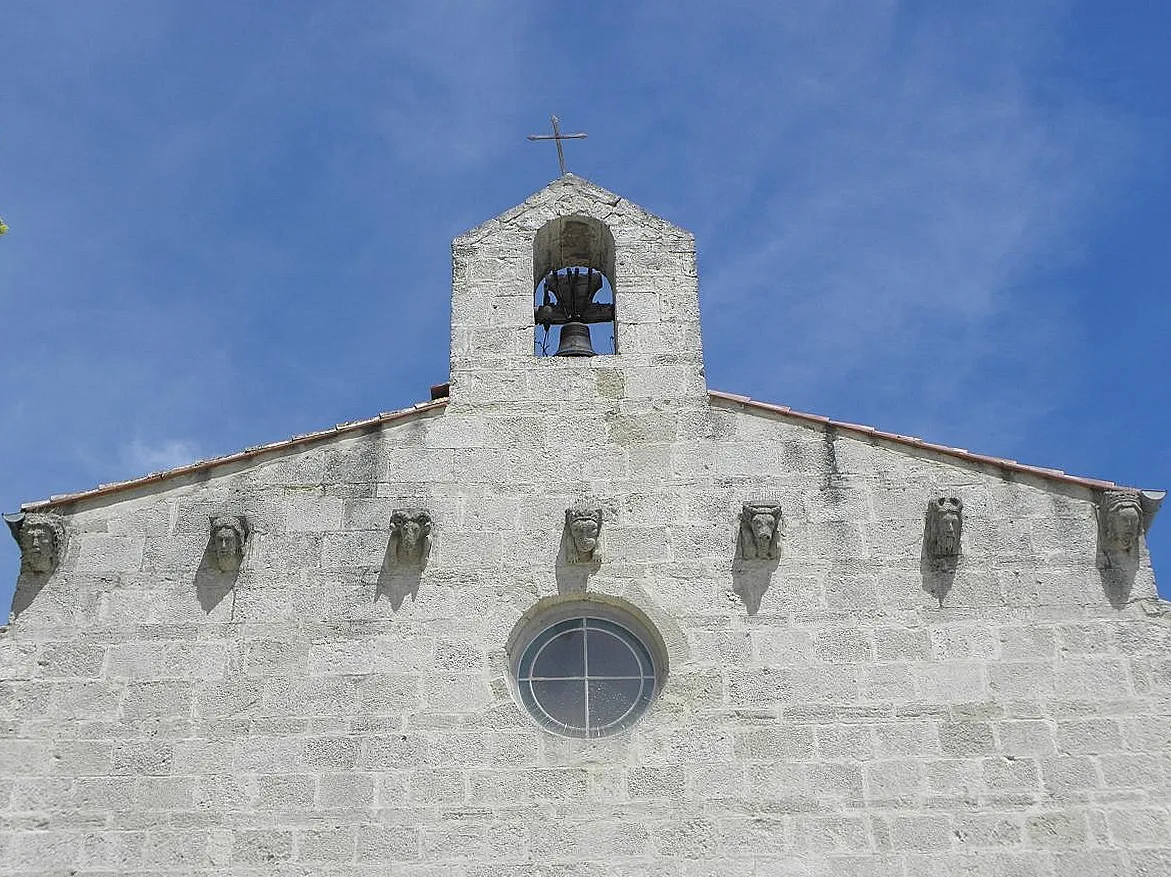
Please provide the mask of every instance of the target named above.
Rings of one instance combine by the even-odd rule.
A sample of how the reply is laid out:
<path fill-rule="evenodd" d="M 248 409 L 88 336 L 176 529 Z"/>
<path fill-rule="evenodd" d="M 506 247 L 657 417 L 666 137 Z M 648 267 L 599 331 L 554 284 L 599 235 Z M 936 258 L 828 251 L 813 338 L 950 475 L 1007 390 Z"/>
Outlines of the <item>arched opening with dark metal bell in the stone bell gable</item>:
<path fill-rule="evenodd" d="M 533 352 L 616 354 L 614 235 L 593 217 L 557 217 L 533 242 Z"/>

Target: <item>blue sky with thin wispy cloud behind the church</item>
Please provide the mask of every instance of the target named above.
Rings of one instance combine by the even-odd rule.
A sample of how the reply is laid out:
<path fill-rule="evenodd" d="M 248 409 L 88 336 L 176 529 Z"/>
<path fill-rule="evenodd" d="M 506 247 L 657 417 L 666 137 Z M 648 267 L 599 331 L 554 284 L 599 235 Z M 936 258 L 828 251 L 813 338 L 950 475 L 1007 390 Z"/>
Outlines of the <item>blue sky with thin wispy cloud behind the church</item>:
<path fill-rule="evenodd" d="M 9 4 L 0 506 L 426 398 L 451 238 L 556 176 L 552 112 L 570 170 L 694 232 L 712 388 L 1171 487 L 1169 30 L 1130 0 Z M 5 537 L 4 605 L 16 568 Z"/>

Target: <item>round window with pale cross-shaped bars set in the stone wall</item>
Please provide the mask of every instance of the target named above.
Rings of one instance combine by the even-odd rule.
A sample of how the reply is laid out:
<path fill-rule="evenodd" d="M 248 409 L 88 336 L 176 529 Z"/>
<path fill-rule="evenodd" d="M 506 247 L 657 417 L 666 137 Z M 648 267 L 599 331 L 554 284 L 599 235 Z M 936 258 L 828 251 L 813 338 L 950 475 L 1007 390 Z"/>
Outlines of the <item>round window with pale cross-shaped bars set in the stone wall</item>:
<path fill-rule="evenodd" d="M 651 650 L 631 628 L 583 615 L 542 629 L 516 664 L 526 708 L 569 736 L 605 736 L 630 727 L 655 697 Z"/>

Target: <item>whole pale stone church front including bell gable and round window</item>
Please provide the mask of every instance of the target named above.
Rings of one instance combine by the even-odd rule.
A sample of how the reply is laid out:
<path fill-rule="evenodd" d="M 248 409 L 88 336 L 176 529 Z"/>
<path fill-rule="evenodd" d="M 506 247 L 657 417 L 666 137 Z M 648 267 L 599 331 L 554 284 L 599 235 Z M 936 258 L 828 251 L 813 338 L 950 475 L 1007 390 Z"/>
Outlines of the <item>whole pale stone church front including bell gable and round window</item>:
<path fill-rule="evenodd" d="M 6 515 L 0 875 L 1171 873 L 1162 493 L 708 390 L 571 174 L 432 396 Z"/>

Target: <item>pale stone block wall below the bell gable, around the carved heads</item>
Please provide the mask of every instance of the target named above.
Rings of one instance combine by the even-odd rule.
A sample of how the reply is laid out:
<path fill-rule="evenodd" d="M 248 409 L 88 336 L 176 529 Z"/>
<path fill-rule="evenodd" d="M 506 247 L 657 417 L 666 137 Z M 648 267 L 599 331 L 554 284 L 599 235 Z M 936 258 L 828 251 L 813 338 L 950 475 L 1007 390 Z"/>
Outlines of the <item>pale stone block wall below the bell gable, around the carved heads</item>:
<path fill-rule="evenodd" d="M 1089 495 L 719 406 L 663 416 L 650 477 L 657 441 L 600 418 L 588 587 L 651 617 L 670 672 L 631 732 L 570 740 L 504 655 L 567 584 L 550 426 L 427 414 L 67 509 L 63 567 L 0 637 L 0 873 L 1167 872 L 1171 632 L 1145 564 L 1111 605 Z M 941 605 L 940 491 L 967 512 Z M 752 615 L 749 495 L 786 522 Z M 383 555 L 419 502 L 412 594 Z M 207 592 L 225 508 L 253 533 Z"/>

